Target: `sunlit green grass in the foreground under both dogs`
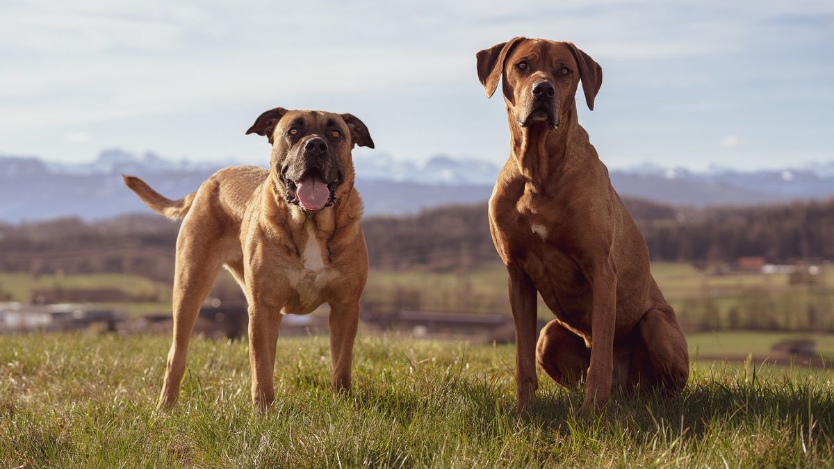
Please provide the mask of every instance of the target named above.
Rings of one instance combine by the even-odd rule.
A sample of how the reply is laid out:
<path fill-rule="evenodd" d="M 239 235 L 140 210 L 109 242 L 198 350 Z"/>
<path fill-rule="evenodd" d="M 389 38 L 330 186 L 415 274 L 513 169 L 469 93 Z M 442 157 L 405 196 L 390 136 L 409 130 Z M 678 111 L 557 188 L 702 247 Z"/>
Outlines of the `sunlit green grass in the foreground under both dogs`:
<path fill-rule="evenodd" d="M 511 346 L 361 337 L 354 392 L 326 338 L 279 340 L 277 398 L 249 402 L 247 345 L 195 339 L 180 405 L 153 410 L 168 337 L 0 336 L 3 466 L 832 466 L 834 374 L 696 364 L 682 396 L 617 396 L 540 376 L 514 407 Z"/>

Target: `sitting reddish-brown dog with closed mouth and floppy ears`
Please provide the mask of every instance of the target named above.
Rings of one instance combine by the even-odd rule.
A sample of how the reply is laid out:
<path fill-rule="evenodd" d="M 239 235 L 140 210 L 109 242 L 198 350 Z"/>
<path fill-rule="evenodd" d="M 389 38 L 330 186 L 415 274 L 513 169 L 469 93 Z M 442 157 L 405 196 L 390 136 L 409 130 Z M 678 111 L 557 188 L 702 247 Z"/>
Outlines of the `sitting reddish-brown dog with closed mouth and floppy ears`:
<path fill-rule="evenodd" d="M 602 68 L 572 43 L 543 39 L 513 38 L 477 59 L 488 97 L 503 78 L 510 121 L 490 231 L 510 276 L 519 411 L 538 387 L 535 361 L 561 385 L 586 378 L 583 414 L 605 405 L 612 384 L 680 391 L 686 340 L 651 276 L 646 241 L 576 119 L 580 79 L 593 109 Z M 556 319 L 535 345 L 537 291 Z"/>

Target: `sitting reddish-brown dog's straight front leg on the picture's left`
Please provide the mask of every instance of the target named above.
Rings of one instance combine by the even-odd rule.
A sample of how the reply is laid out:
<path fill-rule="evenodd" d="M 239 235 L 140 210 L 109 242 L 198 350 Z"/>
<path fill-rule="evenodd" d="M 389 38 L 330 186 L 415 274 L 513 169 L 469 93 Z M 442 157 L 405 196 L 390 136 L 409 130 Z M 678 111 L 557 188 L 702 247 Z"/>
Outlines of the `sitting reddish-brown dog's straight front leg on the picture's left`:
<path fill-rule="evenodd" d="M 537 306 L 533 281 L 524 270 L 508 265 L 510 274 L 510 308 L 515 322 L 515 386 L 517 387 L 518 411 L 529 409 L 539 387 L 535 375 L 535 325 Z"/>

